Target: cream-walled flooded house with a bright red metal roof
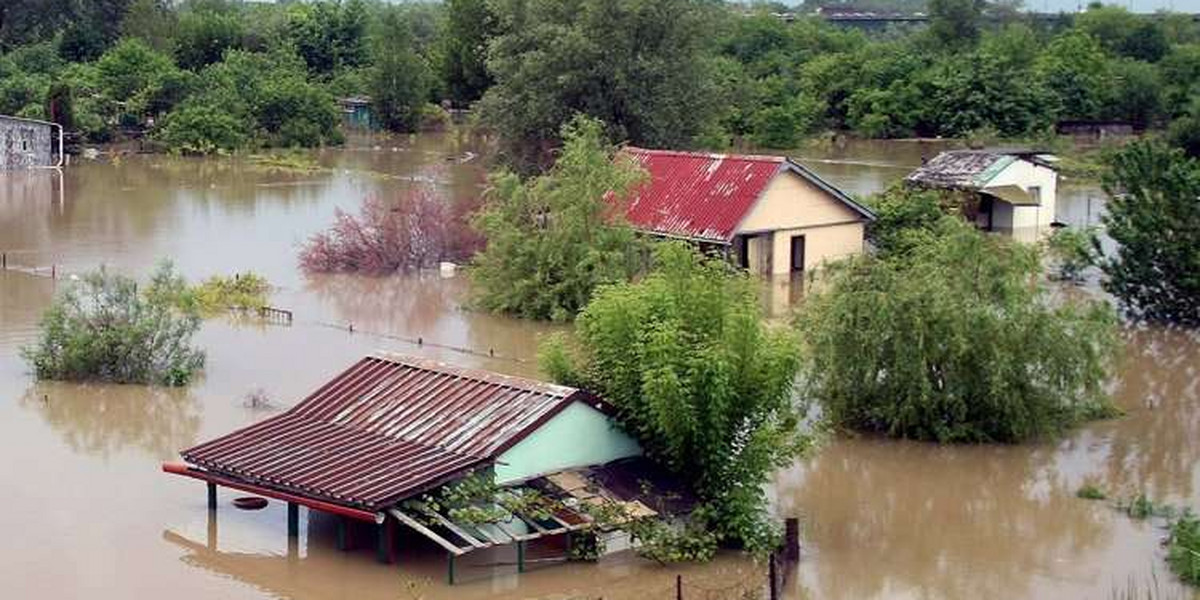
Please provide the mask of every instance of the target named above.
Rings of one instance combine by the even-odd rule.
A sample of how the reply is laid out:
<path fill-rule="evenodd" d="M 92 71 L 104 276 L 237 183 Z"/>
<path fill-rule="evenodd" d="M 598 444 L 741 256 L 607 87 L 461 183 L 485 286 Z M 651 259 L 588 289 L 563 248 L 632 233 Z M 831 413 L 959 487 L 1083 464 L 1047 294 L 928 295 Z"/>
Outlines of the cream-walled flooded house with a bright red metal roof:
<path fill-rule="evenodd" d="M 625 148 L 649 173 L 626 208 L 644 233 L 724 250 L 760 275 L 787 275 L 863 251 L 865 206 L 782 156 Z"/>

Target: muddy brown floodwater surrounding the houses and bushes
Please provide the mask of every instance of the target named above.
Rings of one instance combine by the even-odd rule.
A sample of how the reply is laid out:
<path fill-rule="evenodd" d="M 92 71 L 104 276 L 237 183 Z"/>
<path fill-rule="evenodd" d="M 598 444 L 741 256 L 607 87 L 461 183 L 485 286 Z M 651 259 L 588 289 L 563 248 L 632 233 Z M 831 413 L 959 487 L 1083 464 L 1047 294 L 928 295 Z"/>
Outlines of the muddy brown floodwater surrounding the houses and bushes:
<path fill-rule="evenodd" d="M 484 182 L 475 150 L 446 136 L 355 139 L 295 174 L 228 160 L 128 156 L 54 173 L 0 174 L 0 596 L 2 598 L 730 598 L 763 569 L 724 553 L 660 568 L 631 556 L 517 575 L 512 557 L 480 554 L 443 583 L 418 544 L 400 565 L 335 550 L 334 528 L 304 520 L 289 547 L 284 510 L 244 512 L 203 486 L 163 475 L 178 450 L 287 408 L 364 353 L 421 354 L 535 376 L 554 328 L 467 311 L 461 277 L 305 277 L 296 246 L 337 208 L 433 180 L 452 198 Z M 851 144 L 805 162 L 852 193 L 878 191 L 936 145 Z M 1096 222 L 1094 187 L 1066 185 L 1058 218 Z M 73 274 L 101 264 L 144 275 L 170 258 L 190 278 L 253 270 L 293 310 L 292 326 L 211 320 L 198 342 L 204 376 L 182 390 L 36 383 L 19 358 L 37 318 Z M 54 265 L 59 280 L 47 277 Z M 785 292 L 786 294 L 786 292 Z M 784 305 L 796 294 L 785 295 Z M 773 301 L 772 306 L 780 302 Z M 354 332 L 349 331 L 353 324 Z M 421 337 L 425 344 L 412 340 Z M 935 446 L 829 440 L 776 476 L 780 515 L 804 522 L 788 598 L 1111 598 L 1153 586 L 1189 598 L 1163 562 L 1156 522 L 1075 498 L 1087 480 L 1200 505 L 1200 340 L 1127 334 L 1114 383 L 1127 415 L 1054 443 Z M 268 407 L 248 407 L 262 390 Z"/>

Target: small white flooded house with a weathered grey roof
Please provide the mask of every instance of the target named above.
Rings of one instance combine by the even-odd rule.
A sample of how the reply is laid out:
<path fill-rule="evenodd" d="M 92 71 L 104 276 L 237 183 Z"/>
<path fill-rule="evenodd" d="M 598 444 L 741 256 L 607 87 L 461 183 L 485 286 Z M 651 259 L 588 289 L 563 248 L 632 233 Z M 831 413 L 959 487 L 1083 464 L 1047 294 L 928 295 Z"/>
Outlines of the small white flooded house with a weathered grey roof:
<path fill-rule="evenodd" d="M 905 181 L 979 194 L 976 224 L 1034 240 L 1055 222 L 1056 157 L 1034 151 L 952 150 L 938 154 Z"/>

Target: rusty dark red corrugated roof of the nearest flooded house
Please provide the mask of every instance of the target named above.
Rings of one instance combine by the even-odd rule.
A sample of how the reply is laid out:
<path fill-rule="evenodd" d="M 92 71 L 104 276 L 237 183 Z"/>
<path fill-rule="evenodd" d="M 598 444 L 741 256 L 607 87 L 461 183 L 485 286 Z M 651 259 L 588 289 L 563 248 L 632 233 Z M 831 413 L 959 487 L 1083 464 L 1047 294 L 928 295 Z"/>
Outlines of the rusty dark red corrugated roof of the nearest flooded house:
<path fill-rule="evenodd" d="M 290 410 L 181 452 L 254 485 L 378 509 L 490 463 L 583 394 L 368 356 Z"/>

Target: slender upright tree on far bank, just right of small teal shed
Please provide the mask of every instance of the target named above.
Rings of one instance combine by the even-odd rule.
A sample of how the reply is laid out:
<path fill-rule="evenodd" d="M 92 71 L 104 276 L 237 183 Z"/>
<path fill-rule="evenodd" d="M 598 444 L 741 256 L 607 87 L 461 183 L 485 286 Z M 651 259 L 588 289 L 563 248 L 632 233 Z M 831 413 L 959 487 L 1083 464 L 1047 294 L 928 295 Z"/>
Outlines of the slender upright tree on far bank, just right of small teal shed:
<path fill-rule="evenodd" d="M 408 25 L 397 13 L 384 16 L 382 30 L 370 82 L 376 116 L 391 131 L 413 132 L 428 102 L 428 67 L 413 48 Z"/>

